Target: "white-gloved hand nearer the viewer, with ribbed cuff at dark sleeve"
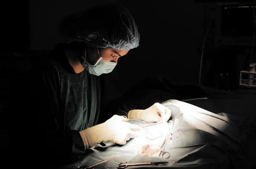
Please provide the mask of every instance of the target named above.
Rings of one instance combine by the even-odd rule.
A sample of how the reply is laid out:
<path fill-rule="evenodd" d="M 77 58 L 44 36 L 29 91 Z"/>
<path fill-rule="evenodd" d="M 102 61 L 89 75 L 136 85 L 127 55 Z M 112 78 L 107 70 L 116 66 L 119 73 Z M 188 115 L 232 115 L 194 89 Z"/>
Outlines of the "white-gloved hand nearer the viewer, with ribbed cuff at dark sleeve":
<path fill-rule="evenodd" d="M 95 146 L 102 141 L 116 144 L 125 144 L 135 136 L 135 131 L 143 130 L 142 127 L 126 122 L 127 118 L 113 115 L 102 124 L 87 128 L 80 132 L 86 148 Z"/>

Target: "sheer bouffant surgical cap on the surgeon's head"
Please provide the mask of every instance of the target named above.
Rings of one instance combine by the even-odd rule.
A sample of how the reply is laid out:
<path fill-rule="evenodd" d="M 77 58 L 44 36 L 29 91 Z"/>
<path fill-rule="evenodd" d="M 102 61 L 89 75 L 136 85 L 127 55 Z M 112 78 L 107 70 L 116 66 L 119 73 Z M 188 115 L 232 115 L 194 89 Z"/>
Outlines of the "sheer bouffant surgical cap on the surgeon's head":
<path fill-rule="evenodd" d="M 65 42 L 84 42 L 87 47 L 130 50 L 139 46 L 134 18 L 124 6 L 104 4 L 65 17 L 58 28 Z"/>

